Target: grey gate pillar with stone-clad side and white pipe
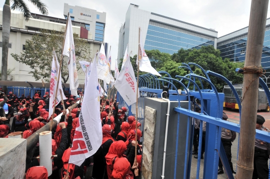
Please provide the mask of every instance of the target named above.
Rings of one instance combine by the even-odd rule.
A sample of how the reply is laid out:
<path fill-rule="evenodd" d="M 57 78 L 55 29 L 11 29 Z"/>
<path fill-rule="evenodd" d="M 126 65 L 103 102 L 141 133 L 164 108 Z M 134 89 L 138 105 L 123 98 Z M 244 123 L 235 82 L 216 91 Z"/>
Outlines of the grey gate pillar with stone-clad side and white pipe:
<path fill-rule="evenodd" d="M 142 176 L 147 179 L 159 179 L 161 178 L 162 174 L 166 112 L 168 103 L 159 98 L 145 98 L 144 104 L 145 123 L 143 128 L 144 138 Z M 178 102 L 171 101 L 167 133 L 166 161 L 164 170 L 165 178 L 173 178 L 174 174 L 178 114 L 174 112 L 173 108 L 176 106 L 178 106 Z M 181 101 L 181 107 L 188 108 L 188 101 Z M 176 175 L 177 178 L 182 178 L 184 171 L 183 166 L 185 158 L 187 116 L 184 114 L 180 114 L 179 121 L 180 125 L 178 134 Z"/>

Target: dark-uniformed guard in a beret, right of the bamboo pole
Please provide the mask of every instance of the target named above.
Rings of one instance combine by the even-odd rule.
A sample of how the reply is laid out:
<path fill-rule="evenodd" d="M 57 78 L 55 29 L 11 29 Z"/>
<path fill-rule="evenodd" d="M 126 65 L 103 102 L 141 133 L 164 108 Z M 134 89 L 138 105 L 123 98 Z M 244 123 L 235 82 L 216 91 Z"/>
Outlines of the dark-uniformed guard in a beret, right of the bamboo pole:
<path fill-rule="evenodd" d="M 256 129 L 262 130 L 262 124 L 265 119 L 261 115 L 257 115 Z M 270 143 L 255 138 L 255 151 L 253 161 L 252 179 L 268 178 L 268 158 L 270 154 Z"/>

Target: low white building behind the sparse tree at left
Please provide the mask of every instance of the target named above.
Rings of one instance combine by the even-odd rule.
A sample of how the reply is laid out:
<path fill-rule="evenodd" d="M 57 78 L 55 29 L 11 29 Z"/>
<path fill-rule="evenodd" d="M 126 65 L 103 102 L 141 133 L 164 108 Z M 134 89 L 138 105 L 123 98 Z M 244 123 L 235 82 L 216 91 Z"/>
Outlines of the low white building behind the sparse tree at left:
<path fill-rule="evenodd" d="M 28 73 L 29 71 L 31 71 L 31 68 L 26 64 L 16 61 L 10 54 L 11 53 L 20 54 L 24 50 L 25 40 L 31 39 L 33 34 L 39 33 L 38 31 L 39 29 L 60 31 L 63 27 L 65 27 L 66 19 L 64 18 L 50 17 L 35 13 L 31 13 L 31 15 L 32 18 L 30 18 L 28 21 L 25 21 L 22 13 L 15 11 L 11 12 L 7 68 L 13 69 L 10 75 L 8 76 L 8 79 L 12 81 L 35 81 L 35 79 L 34 77 L 32 77 L 31 74 Z M 104 25 L 105 12 L 103 12 L 100 17 L 102 17 L 102 23 Z M 88 42 L 87 45 L 90 46 L 91 50 L 89 58 L 93 58 L 95 51 L 99 50 L 100 48 L 100 45 L 103 41 L 103 37 L 102 40 L 101 38 L 95 40 L 94 36 L 95 30 L 93 30 L 93 32 L 91 32 L 91 30 L 88 30 L 87 29 L 88 23 L 84 23 L 82 20 L 80 21 L 72 20 L 71 22 L 73 33 L 77 33 L 81 38 L 87 40 Z M 93 28 L 95 28 L 95 26 L 93 26 Z M 2 11 L 0 11 L 0 56 L 2 55 L 1 41 L 2 41 Z M 78 74 L 79 74 L 78 75 L 79 83 L 84 83 L 83 72 L 79 71 Z M 38 80 L 37 82 L 41 82 L 41 79 Z"/>

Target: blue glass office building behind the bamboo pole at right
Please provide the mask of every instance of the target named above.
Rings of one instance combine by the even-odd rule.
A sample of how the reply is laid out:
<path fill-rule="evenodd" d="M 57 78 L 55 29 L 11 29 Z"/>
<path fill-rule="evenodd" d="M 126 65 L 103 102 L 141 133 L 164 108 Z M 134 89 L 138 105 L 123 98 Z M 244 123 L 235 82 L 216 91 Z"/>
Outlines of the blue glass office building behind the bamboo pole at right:
<path fill-rule="evenodd" d="M 270 20 L 266 20 L 263 47 L 261 53 L 261 66 L 270 68 Z M 244 61 L 246 54 L 248 27 L 231 32 L 217 38 L 217 49 L 220 50 L 222 59 L 229 58 L 230 61 Z"/>

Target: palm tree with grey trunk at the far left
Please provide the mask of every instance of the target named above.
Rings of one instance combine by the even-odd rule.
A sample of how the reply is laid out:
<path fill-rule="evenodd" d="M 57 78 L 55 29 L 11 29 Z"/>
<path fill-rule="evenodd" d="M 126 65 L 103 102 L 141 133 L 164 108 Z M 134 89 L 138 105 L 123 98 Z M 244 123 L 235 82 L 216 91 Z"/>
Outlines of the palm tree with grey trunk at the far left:
<path fill-rule="evenodd" d="M 10 0 L 12 5 L 11 9 L 18 9 L 22 12 L 23 17 L 26 21 L 31 17 L 30 9 L 23 0 Z M 48 14 L 47 7 L 40 0 L 28 0 L 34 4 L 38 10 L 44 14 Z M 7 77 L 7 55 L 8 55 L 8 42 L 10 33 L 10 6 L 9 0 L 5 0 L 3 5 L 3 24 L 2 24 L 2 66 L 1 66 L 1 80 L 6 80 Z M 2 86 L 3 90 L 6 91 L 6 86 Z"/>

